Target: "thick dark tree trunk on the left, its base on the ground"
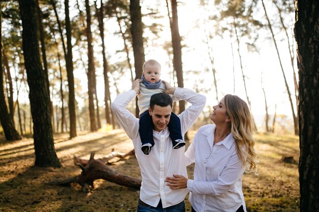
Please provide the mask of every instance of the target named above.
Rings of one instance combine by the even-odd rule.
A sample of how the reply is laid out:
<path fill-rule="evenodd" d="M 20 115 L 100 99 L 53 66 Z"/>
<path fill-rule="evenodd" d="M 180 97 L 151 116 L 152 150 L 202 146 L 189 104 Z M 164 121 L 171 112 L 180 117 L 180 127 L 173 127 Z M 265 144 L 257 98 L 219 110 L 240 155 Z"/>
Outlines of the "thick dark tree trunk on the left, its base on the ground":
<path fill-rule="evenodd" d="M 35 0 L 19 0 L 24 64 L 28 76 L 33 118 L 35 165 L 61 167 L 52 136 L 49 85 L 40 61 L 36 7 Z"/>

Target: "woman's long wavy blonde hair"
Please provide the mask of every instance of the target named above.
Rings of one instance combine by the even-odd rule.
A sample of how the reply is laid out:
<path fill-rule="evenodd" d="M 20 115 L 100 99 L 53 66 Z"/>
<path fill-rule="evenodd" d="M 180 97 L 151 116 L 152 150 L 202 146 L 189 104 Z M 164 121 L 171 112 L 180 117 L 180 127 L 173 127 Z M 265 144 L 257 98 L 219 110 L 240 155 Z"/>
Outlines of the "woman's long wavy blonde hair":
<path fill-rule="evenodd" d="M 224 101 L 231 119 L 231 133 L 235 139 L 237 154 L 243 164 L 247 164 L 247 171 L 256 172 L 254 123 L 250 109 L 244 100 L 235 95 L 226 95 Z"/>

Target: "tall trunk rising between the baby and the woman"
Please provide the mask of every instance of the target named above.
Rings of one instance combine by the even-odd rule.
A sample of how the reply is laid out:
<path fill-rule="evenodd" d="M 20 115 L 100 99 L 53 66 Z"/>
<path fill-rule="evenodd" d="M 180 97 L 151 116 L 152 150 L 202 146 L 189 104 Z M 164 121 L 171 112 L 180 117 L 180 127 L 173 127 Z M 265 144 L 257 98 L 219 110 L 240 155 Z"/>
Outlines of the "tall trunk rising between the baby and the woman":
<path fill-rule="evenodd" d="M 166 1 L 167 8 L 168 2 Z M 169 9 L 168 9 L 169 10 Z M 181 59 L 181 45 L 180 45 L 180 35 L 178 29 L 178 16 L 177 16 L 177 1 L 171 0 L 171 10 L 172 15 L 169 14 L 170 27 L 172 34 L 172 46 L 173 46 L 173 67 L 176 72 L 177 85 L 178 87 L 184 87 L 183 82 L 183 67 Z M 179 113 L 185 110 L 185 101 L 179 101 Z M 185 135 L 187 137 L 187 135 Z"/>

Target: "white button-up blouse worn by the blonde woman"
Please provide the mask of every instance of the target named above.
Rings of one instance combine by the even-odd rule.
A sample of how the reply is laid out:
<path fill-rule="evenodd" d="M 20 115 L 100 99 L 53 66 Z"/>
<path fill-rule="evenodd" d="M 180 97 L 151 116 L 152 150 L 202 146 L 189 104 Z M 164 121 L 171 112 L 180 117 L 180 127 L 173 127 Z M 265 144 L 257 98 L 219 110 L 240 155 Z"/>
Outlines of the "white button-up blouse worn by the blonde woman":
<path fill-rule="evenodd" d="M 195 162 L 194 180 L 187 181 L 189 200 L 197 212 L 235 212 L 241 205 L 246 211 L 242 191 L 245 168 L 234 138 L 230 133 L 213 146 L 215 128 L 201 127 L 185 152 L 186 165 Z"/>

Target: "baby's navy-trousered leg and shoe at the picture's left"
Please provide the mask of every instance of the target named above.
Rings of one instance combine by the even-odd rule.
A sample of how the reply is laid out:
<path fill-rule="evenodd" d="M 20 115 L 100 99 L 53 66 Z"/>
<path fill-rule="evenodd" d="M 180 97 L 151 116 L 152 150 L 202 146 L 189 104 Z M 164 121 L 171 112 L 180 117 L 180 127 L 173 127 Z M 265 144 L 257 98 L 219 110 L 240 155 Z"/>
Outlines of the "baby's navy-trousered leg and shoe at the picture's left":
<path fill-rule="evenodd" d="M 145 155 L 148 155 L 151 152 L 151 147 L 154 145 L 153 120 L 148 110 L 140 115 L 139 133 L 142 141 L 141 149 Z"/>

